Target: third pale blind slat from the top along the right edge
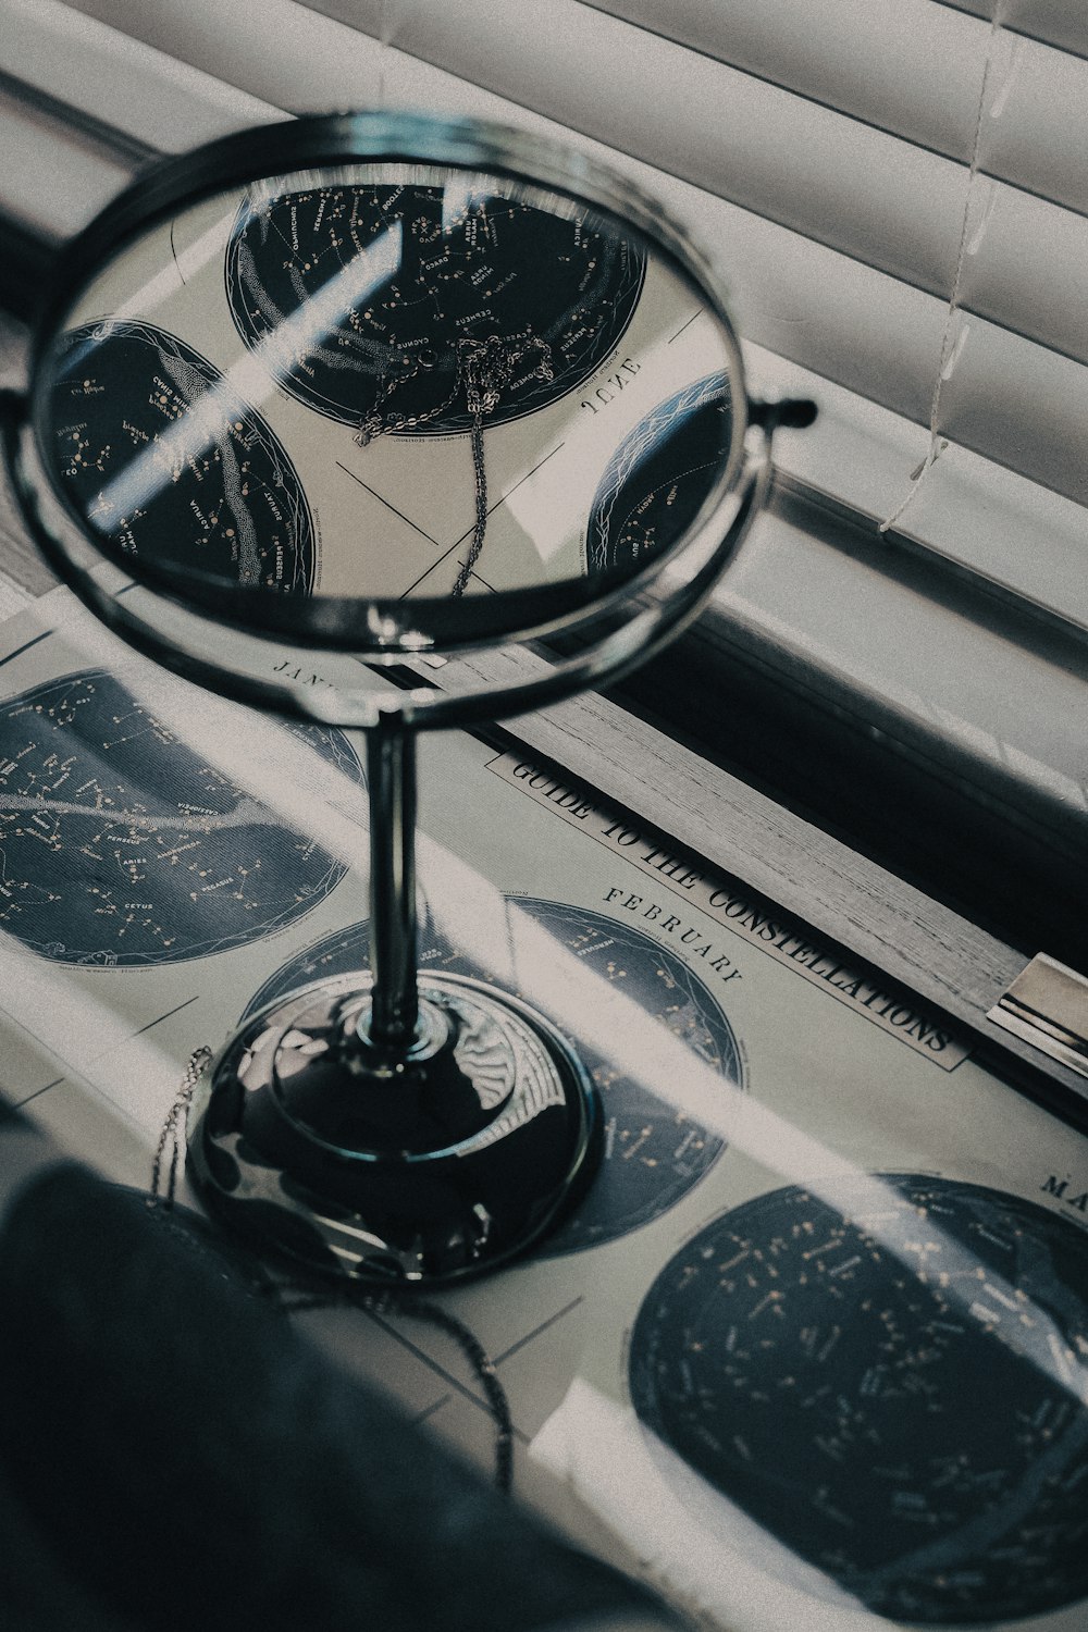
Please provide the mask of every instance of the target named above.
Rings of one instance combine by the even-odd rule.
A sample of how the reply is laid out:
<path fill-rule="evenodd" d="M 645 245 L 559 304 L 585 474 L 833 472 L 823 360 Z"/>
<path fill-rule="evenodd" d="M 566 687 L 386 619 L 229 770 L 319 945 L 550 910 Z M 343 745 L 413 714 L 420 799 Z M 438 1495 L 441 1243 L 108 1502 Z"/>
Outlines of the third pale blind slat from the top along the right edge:
<path fill-rule="evenodd" d="M 307 3 L 364 29 L 382 21 L 374 0 Z M 538 23 L 524 18 L 517 31 L 502 28 L 499 13 L 496 0 L 455 8 L 411 0 L 391 13 L 393 38 L 398 49 L 564 127 L 928 294 L 951 295 L 967 196 L 962 165 L 576 0 L 553 0 Z M 985 46 L 987 31 L 977 34 Z M 1088 64 L 1078 67 L 1088 150 Z M 1088 362 L 1085 302 L 1070 281 L 1070 268 L 1088 263 L 1088 220 L 1006 184 L 977 188 L 1002 230 L 972 232 L 961 305 Z"/>

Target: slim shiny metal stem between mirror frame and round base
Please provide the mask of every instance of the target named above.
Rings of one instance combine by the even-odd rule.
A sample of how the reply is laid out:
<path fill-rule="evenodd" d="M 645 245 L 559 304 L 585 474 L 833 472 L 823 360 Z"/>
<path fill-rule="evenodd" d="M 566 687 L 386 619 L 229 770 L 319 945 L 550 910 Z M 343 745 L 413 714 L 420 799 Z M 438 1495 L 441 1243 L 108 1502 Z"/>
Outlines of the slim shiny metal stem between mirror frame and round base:
<path fill-rule="evenodd" d="M 367 731 L 370 796 L 370 1041 L 416 1036 L 416 733 L 388 715 Z"/>

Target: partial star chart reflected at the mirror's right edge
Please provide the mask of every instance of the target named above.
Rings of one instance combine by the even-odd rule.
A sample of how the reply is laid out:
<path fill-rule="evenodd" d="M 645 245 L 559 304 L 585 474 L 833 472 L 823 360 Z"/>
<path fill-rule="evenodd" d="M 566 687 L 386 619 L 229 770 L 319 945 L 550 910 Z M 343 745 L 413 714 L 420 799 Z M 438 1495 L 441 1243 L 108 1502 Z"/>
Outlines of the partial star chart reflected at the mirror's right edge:
<path fill-rule="evenodd" d="M 729 382 L 721 374 L 685 385 L 648 413 L 597 486 L 586 532 L 589 571 L 630 571 L 682 537 L 724 470 L 731 436 Z"/>

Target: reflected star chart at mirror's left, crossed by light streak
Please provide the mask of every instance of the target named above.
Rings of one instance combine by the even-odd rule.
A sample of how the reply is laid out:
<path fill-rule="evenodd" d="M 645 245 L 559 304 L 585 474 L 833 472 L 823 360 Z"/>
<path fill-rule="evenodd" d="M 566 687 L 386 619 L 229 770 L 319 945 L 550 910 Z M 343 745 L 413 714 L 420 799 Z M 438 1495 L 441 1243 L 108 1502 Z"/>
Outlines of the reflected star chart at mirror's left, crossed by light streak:
<path fill-rule="evenodd" d="M 313 586 L 313 524 L 261 415 L 150 323 L 70 330 L 54 353 L 47 446 L 65 494 L 126 555 L 287 592 Z"/>

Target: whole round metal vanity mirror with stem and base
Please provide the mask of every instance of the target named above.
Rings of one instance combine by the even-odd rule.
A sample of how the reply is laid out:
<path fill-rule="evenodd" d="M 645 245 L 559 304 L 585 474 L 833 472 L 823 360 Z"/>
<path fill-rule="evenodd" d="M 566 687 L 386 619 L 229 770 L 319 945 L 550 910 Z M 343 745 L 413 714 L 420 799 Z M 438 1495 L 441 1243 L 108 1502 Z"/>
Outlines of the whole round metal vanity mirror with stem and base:
<path fill-rule="evenodd" d="M 506 1262 L 590 1182 L 595 1095 L 525 1004 L 416 978 L 416 731 L 659 648 L 734 552 L 773 424 L 812 408 L 749 400 L 716 281 L 656 202 L 480 122 L 245 132 L 150 173 L 67 266 L 5 413 L 49 560 L 163 663 L 369 743 L 370 969 L 230 1040 L 197 1185 L 325 1271 Z M 501 679 L 403 684 L 530 643 Z"/>

